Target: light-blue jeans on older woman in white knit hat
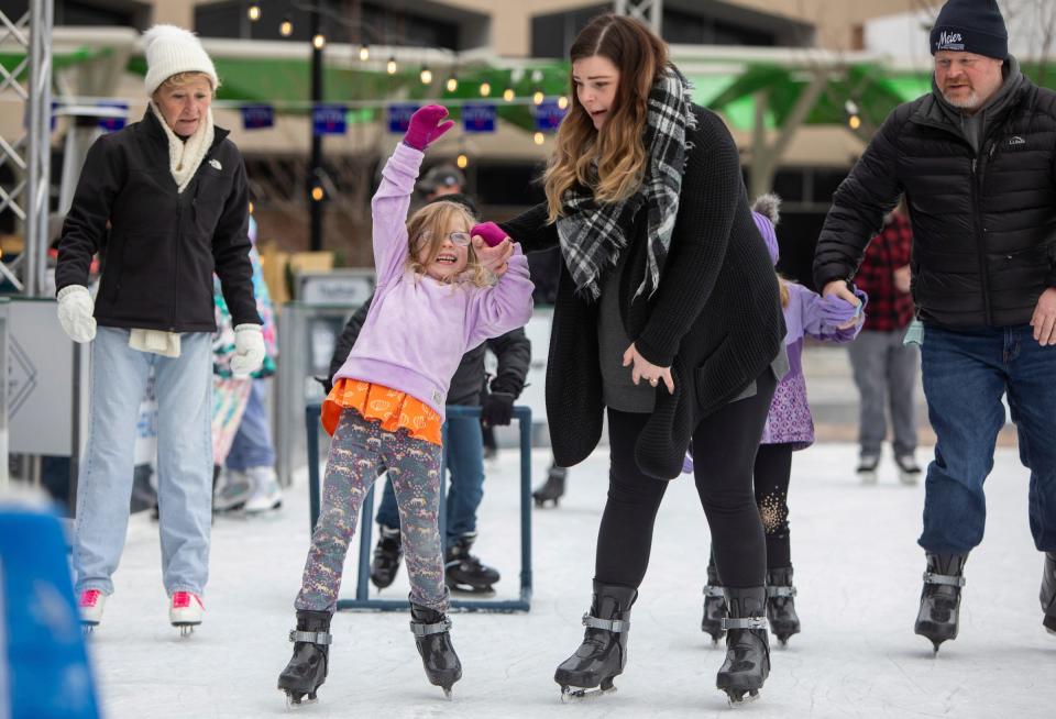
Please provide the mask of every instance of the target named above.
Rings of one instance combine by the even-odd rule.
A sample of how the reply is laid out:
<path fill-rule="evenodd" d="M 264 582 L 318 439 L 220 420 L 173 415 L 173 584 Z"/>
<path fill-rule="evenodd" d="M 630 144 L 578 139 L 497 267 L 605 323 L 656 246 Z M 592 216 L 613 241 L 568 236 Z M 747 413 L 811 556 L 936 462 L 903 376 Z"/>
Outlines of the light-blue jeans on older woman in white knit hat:
<path fill-rule="evenodd" d="M 77 480 L 74 582 L 113 591 L 129 526 L 133 447 L 151 367 L 157 394 L 157 504 L 162 580 L 168 594 L 201 594 L 212 520 L 212 333 L 180 335 L 179 357 L 129 346 L 129 331 L 100 327 L 91 343 L 88 443 Z"/>

